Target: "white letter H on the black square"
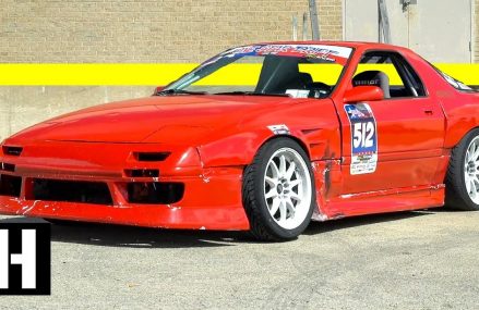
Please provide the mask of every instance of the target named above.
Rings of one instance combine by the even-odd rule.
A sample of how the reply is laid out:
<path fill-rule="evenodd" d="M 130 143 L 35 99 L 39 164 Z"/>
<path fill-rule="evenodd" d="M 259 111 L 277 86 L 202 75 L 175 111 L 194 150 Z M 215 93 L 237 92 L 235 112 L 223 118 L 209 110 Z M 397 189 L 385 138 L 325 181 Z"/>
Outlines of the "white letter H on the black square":
<path fill-rule="evenodd" d="M 0 289 L 9 288 L 9 264 L 22 265 L 22 288 L 36 288 L 35 230 L 22 230 L 22 253 L 12 255 L 9 252 L 9 231 L 0 230 Z"/>

